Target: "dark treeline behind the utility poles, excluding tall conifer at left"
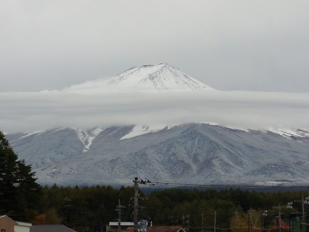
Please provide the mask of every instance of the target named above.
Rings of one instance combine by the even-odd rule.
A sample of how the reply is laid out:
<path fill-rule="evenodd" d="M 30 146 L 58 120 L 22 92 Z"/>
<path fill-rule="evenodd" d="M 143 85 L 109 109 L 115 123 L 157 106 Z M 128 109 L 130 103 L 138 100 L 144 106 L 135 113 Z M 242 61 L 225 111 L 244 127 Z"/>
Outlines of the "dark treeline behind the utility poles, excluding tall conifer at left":
<path fill-rule="evenodd" d="M 274 215 L 278 213 L 278 209 L 273 209 L 273 206 L 278 206 L 280 203 L 281 213 L 287 215 L 288 202 L 301 199 L 302 195 L 309 195 L 306 192 L 266 193 L 240 189 L 200 191 L 176 188 L 152 191 L 150 194 L 140 192 L 141 197 L 148 197 L 148 200 L 139 201 L 141 219 L 150 219 L 154 226 L 190 226 L 191 231 L 194 228 L 201 228 L 202 213 L 203 225 L 214 226 L 215 211 L 218 228 L 227 229 L 235 226 L 236 210 L 238 226 L 246 227 L 248 226 L 247 211 L 250 208 L 252 209 L 250 223 L 254 227 L 261 228 L 265 219 L 267 228 L 273 228 L 274 226 L 270 226 Z M 52 187 L 45 186 L 41 189 L 40 199 L 37 200 L 35 207 L 28 209 L 24 220 L 32 221 L 34 224 L 64 224 L 77 231 L 99 231 L 100 226 L 103 228 L 109 221 L 118 219 L 115 209 L 119 200 L 121 205 L 125 206 L 121 213 L 122 221 L 133 221 L 133 200 L 130 200 L 130 197 L 133 197 L 133 187 L 119 189 L 111 186 L 58 187 L 54 184 Z M 294 203 L 293 206 L 291 212 L 302 211 L 300 203 Z M 263 218 L 262 214 L 265 210 L 268 210 L 268 215 Z M 284 217 L 287 216 L 282 216 L 282 219 Z M 238 231 L 242 230 L 238 229 Z"/>

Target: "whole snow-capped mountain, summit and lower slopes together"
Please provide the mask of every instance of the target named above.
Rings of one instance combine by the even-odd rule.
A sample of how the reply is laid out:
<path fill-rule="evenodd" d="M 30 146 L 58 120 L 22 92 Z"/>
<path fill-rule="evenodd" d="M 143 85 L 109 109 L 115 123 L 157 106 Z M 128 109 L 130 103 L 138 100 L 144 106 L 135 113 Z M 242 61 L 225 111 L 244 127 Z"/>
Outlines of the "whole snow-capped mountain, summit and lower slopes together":
<path fill-rule="evenodd" d="M 188 92 L 186 96 L 198 97 L 210 96 L 210 92 L 216 96 L 221 94 L 166 63 L 133 67 L 112 78 L 87 81 L 62 91 L 69 94 L 61 95 L 59 101 L 63 101 L 63 96 L 69 95 L 74 98 L 78 96 L 79 100 L 86 98 L 78 101 L 72 108 L 93 109 L 90 106 L 94 99 L 108 102 L 107 107 L 99 107 L 97 115 L 94 110 L 81 114 L 84 123 L 96 116 L 104 117 L 102 114 L 105 112 L 110 113 L 115 107 L 114 102 L 118 101 L 109 100 L 115 96 L 120 99 L 121 108 L 124 108 L 126 102 L 123 99 L 129 95 L 138 98 L 145 98 L 146 95 L 159 96 L 168 102 L 168 97 L 175 98 L 184 95 L 183 92 Z M 99 97 L 86 96 L 106 92 L 108 94 L 98 95 Z M 109 94 L 110 92 L 116 94 Z M 122 92 L 125 94 L 120 94 Z M 58 92 L 53 92 L 49 95 L 57 94 Z M 148 101 L 146 103 L 147 105 L 142 106 L 142 111 L 144 107 L 152 108 L 152 105 L 148 106 Z M 188 115 L 194 112 L 198 114 L 200 111 L 191 111 L 190 103 L 186 105 L 181 101 L 179 105 Z M 44 101 L 44 104 L 48 104 L 48 101 Z M 70 113 L 70 104 L 71 102 L 61 110 Z M 204 99 L 197 104 L 203 105 Z M 57 102 L 52 101 L 51 106 L 53 105 L 57 105 Z M 138 104 L 133 101 L 125 108 L 125 113 L 135 105 Z M 172 104 L 167 107 L 172 107 Z M 159 114 L 153 116 L 156 110 L 157 108 L 147 115 L 160 117 Z M 134 108 L 132 111 L 137 110 Z M 92 125 L 93 128 L 83 129 L 66 126 L 7 134 L 6 137 L 19 158 L 32 165 L 41 184 L 126 185 L 132 183 L 135 176 L 152 181 L 198 184 L 309 184 L 308 130 L 258 131 L 232 129 L 215 123 L 180 124 L 174 122 L 177 111 L 168 112 L 172 112 L 173 116 L 170 125 L 144 125 L 142 122 L 125 124 L 121 122 L 122 118 L 118 118 L 116 125 Z M 70 120 L 74 120 L 74 115 Z"/>

